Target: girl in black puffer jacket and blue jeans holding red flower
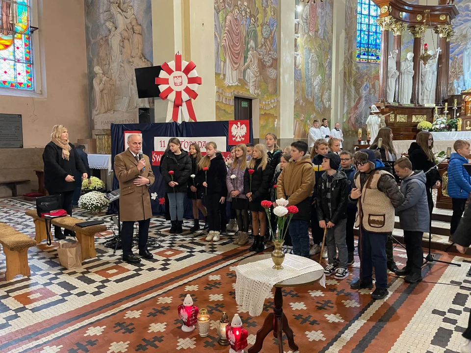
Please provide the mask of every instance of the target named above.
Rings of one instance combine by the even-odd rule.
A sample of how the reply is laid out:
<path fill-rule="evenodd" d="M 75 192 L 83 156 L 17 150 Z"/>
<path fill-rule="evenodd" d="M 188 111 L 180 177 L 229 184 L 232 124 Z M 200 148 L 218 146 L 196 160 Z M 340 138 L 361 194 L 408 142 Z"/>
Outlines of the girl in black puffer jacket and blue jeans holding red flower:
<path fill-rule="evenodd" d="M 165 179 L 165 192 L 170 206 L 170 233 L 183 233 L 183 201 L 188 191 L 187 181 L 191 173 L 191 159 L 188 152 L 181 149 L 180 140 L 168 140 L 167 151 L 160 162 L 160 173 Z"/>

